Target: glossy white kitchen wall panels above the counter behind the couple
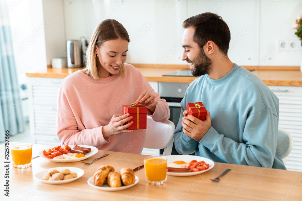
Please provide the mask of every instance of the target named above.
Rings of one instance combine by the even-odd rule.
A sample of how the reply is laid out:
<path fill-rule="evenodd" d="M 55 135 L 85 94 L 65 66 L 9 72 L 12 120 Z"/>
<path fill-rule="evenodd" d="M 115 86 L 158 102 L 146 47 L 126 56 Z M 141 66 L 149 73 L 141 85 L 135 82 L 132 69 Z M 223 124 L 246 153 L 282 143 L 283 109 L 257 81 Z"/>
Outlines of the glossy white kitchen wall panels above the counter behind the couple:
<path fill-rule="evenodd" d="M 302 0 L 64 0 L 63 7 L 66 40 L 89 40 L 107 18 L 123 24 L 131 40 L 128 63 L 185 64 L 182 22 L 203 12 L 227 22 L 229 57 L 239 65 L 300 66 L 302 60 L 302 48 L 277 49 L 283 38 L 298 41 L 291 26 L 302 14 Z"/>

